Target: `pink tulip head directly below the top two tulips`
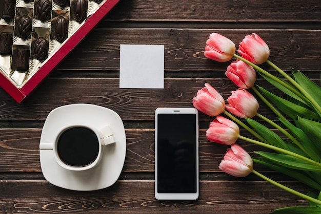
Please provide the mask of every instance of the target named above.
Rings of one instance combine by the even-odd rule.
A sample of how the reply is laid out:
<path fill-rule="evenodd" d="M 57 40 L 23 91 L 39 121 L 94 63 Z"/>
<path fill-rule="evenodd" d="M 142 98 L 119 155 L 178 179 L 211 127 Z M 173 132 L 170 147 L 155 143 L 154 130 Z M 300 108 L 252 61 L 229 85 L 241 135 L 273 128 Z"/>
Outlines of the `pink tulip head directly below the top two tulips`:
<path fill-rule="evenodd" d="M 253 87 L 256 81 L 256 72 L 254 68 L 239 59 L 230 63 L 225 75 L 242 89 Z"/>

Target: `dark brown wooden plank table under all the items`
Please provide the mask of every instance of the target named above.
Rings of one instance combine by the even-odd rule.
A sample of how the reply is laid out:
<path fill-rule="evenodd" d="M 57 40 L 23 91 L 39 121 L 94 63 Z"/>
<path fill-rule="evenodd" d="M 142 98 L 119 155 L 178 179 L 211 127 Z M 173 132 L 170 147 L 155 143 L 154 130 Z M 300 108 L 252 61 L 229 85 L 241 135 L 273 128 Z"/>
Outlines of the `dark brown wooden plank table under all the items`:
<path fill-rule="evenodd" d="M 205 82 L 224 98 L 237 88 L 224 74 L 228 62 L 203 55 L 212 32 L 236 45 L 255 32 L 270 47 L 271 61 L 289 73 L 290 67 L 300 69 L 319 84 L 320 21 L 321 5 L 313 0 L 121 0 L 24 104 L 0 89 L 0 213 L 269 213 L 280 207 L 307 206 L 307 201 L 254 175 L 235 178 L 220 172 L 218 164 L 228 146 L 206 139 L 213 118 L 204 114 L 199 117 L 199 199 L 155 200 L 154 111 L 191 107 Z M 120 44 L 164 45 L 165 88 L 119 89 Z M 266 65 L 263 68 L 273 72 Z M 257 83 L 269 87 L 262 79 Z M 58 106 L 72 103 L 101 105 L 123 119 L 126 161 L 118 181 L 109 188 L 71 191 L 43 177 L 38 147 L 45 119 Z M 276 121 L 264 104 L 259 113 Z M 239 144 L 251 155 L 262 150 L 243 141 Z M 303 193 L 309 190 L 268 168 L 255 165 L 255 169 Z"/>

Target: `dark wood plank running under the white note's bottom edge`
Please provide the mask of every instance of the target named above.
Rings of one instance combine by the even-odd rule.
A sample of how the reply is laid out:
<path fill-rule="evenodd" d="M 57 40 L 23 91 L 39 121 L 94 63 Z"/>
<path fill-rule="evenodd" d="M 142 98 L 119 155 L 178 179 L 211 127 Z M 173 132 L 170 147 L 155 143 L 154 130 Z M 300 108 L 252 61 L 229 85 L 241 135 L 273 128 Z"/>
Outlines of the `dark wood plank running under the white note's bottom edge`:
<path fill-rule="evenodd" d="M 319 83 L 319 80 L 316 80 Z M 114 110 L 124 121 L 153 121 L 158 107 L 192 107 L 197 90 L 210 83 L 226 99 L 236 85 L 227 78 L 166 78 L 164 89 L 119 89 L 118 78 L 49 78 L 24 104 L 17 104 L 0 89 L 0 121 L 45 120 L 58 106 L 72 103 L 91 103 Z M 265 80 L 262 87 L 280 94 Z M 259 100 L 260 101 L 260 100 Z M 276 120 L 275 115 L 261 102 L 259 112 Z M 213 118 L 200 114 L 200 120 Z M 27 126 L 28 127 L 28 126 Z"/>

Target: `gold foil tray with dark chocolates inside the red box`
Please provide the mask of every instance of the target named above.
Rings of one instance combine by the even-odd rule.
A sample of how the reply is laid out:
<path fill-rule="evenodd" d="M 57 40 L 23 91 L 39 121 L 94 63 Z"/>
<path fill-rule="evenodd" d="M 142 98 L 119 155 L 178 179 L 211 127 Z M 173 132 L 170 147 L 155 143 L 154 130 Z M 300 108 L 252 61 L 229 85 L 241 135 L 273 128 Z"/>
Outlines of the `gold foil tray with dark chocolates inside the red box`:
<path fill-rule="evenodd" d="M 1 0 L 0 72 L 21 88 L 108 0 Z"/>

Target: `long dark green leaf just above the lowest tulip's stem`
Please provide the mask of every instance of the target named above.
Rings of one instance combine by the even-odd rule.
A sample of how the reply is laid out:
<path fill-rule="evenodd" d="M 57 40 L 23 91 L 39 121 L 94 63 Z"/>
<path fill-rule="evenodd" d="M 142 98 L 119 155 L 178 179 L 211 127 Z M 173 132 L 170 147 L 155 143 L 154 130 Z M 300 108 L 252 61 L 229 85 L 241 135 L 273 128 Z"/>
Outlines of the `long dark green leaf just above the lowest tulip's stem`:
<path fill-rule="evenodd" d="M 302 183 L 304 183 L 314 189 L 321 190 L 320 184 L 318 184 L 313 179 L 306 176 L 306 174 L 300 172 L 299 170 L 290 169 L 285 166 L 277 165 L 277 164 L 267 160 L 266 158 L 253 158 L 253 162 L 267 166 L 267 167 L 269 167 L 279 173 L 283 173 L 287 176 L 295 178 L 296 180 L 298 180 L 298 181 L 300 181 L 300 182 L 302 182 Z"/>

